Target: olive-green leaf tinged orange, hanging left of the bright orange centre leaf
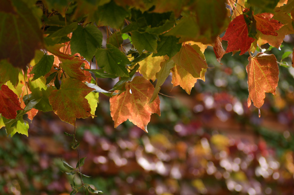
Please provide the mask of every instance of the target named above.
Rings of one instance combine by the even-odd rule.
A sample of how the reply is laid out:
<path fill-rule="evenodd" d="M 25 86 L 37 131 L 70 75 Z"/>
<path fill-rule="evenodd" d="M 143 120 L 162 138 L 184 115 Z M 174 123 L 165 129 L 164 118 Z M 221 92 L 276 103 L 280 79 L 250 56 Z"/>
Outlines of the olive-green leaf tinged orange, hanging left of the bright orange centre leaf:
<path fill-rule="evenodd" d="M 51 92 L 49 103 L 62 121 L 74 125 L 76 118 L 91 116 L 91 107 L 85 97 L 93 90 L 77 79 L 62 79 L 60 89 Z"/>

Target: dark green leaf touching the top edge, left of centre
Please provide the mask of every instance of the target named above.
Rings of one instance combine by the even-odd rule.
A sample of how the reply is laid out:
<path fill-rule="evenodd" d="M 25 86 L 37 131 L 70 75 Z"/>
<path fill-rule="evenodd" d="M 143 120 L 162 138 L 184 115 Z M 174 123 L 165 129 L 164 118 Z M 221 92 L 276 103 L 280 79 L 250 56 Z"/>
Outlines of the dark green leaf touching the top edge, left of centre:
<path fill-rule="evenodd" d="M 98 7 L 95 12 L 97 22 L 100 21 L 104 25 L 110 25 L 113 28 L 120 28 L 123 25 L 124 18 L 129 13 L 121 6 L 118 6 L 113 0 L 107 4 Z"/>

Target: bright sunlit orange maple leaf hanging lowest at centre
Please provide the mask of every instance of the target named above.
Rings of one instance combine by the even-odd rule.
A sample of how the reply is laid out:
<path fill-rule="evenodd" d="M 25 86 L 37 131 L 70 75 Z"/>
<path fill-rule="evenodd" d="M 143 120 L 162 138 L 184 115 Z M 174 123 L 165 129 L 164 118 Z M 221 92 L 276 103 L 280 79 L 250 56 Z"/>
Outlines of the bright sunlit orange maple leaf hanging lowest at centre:
<path fill-rule="evenodd" d="M 147 132 L 150 115 L 156 113 L 160 116 L 160 100 L 149 103 L 153 94 L 153 85 L 142 76 L 136 76 L 131 82 L 125 84 L 122 94 L 110 98 L 110 112 L 114 127 L 129 120 Z"/>

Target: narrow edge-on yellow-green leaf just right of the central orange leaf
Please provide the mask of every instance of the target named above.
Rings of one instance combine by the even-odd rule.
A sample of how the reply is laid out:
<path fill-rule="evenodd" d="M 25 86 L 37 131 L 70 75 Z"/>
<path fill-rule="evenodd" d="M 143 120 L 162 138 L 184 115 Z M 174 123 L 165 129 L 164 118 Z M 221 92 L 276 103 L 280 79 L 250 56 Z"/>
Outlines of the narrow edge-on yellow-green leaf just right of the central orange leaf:
<path fill-rule="evenodd" d="M 174 66 L 175 66 L 175 63 L 172 61 L 172 59 L 166 60 L 160 63 L 161 68 L 160 68 L 160 71 L 156 73 L 157 82 L 156 82 L 155 89 L 149 103 L 151 103 L 152 101 L 156 99 L 160 91 L 160 86 L 163 85 L 167 77 L 170 75 L 171 69 Z"/>

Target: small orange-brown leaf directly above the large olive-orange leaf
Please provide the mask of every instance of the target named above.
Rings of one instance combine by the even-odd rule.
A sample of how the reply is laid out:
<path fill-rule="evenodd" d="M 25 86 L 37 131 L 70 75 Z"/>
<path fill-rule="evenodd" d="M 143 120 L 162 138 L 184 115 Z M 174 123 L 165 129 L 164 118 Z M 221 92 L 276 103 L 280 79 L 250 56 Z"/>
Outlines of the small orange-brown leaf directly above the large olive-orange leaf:
<path fill-rule="evenodd" d="M 75 57 L 73 59 L 60 59 L 62 62 L 59 66 L 67 73 L 71 78 L 78 79 L 80 81 L 85 80 L 87 77 L 80 69 L 81 65 L 84 63 L 83 60 Z"/>

